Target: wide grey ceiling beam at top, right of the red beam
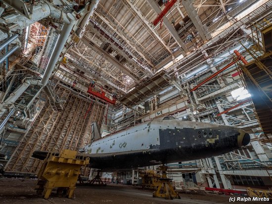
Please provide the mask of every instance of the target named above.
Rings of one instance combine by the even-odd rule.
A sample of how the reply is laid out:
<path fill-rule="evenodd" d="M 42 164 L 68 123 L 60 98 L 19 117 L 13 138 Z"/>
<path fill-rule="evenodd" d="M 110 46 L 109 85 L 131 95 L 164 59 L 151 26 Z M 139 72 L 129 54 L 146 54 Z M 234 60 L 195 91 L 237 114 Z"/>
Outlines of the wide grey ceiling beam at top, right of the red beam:
<path fill-rule="evenodd" d="M 211 39 L 212 36 L 210 33 L 208 33 L 208 27 L 206 25 L 203 25 L 203 23 L 201 22 L 196 10 L 193 7 L 193 3 L 190 0 L 182 0 L 182 5 L 186 9 L 188 16 L 193 22 L 202 40 L 208 41 L 209 39 Z"/>

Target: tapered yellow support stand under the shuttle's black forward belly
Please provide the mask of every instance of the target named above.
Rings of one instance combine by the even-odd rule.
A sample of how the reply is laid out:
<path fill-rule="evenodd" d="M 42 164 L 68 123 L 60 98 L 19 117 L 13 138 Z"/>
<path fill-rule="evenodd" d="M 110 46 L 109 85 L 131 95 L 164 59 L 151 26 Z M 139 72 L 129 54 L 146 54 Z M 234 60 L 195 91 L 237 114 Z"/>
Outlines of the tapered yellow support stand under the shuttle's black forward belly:
<path fill-rule="evenodd" d="M 166 171 L 168 166 L 162 165 L 159 166 L 159 169 L 162 171 L 162 177 L 158 178 L 159 186 L 158 189 L 153 192 L 153 197 L 165 199 L 181 199 L 171 184 L 172 179 L 167 178 Z"/>

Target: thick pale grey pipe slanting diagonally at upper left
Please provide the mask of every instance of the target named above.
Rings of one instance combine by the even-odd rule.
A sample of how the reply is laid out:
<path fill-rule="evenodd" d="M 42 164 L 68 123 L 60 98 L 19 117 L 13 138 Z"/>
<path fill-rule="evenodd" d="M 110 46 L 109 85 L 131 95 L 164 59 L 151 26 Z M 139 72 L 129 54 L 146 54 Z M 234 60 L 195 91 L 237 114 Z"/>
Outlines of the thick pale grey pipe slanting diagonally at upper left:
<path fill-rule="evenodd" d="M 65 43 L 66 43 L 67 39 L 69 38 L 70 33 L 71 33 L 71 31 L 76 23 L 76 20 L 77 20 L 71 13 L 68 13 L 67 17 L 70 20 L 70 23 L 63 24 L 61 34 L 57 40 L 57 43 L 55 45 L 55 49 L 54 49 L 53 53 L 51 54 L 51 57 L 49 59 L 49 62 L 47 64 L 47 67 L 45 70 L 44 78 L 42 80 L 42 84 L 44 86 L 47 84 L 47 82 L 51 76 L 51 73 L 57 63 L 57 60 L 59 59 L 60 53 L 63 50 L 63 47 L 65 46 Z"/>

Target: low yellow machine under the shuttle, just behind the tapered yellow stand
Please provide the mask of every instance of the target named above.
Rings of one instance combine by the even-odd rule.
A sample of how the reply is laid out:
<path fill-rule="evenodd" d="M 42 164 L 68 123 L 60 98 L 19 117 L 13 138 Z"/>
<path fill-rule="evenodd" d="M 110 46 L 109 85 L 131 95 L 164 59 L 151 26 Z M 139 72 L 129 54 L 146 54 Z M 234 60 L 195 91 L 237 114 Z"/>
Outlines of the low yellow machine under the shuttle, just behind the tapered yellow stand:
<path fill-rule="evenodd" d="M 156 190 L 159 187 L 158 178 L 161 176 L 157 174 L 155 170 L 144 170 L 139 173 L 139 176 L 142 178 L 142 188 L 148 188 L 152 190 Z"/>

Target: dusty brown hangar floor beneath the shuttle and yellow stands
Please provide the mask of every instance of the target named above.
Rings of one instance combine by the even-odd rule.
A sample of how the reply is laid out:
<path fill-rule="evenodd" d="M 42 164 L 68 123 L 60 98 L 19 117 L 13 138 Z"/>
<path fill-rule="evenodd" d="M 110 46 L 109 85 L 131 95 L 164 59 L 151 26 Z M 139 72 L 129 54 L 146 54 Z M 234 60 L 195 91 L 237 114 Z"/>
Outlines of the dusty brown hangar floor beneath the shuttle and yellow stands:
<path fill-rule="evenodd" d="M 152 191 L 133 186 L 78 186 L 74 199 L 51 194 L 42 199 L 34 190 L 37 180 L 0 178 L 0 204 L 228 204 L 229 196 L 211 194 L 180 194 L 181 200 L 153 198 Z M 235 202 L 243 203 L 243 202 Z M 261 204 L 270 202 L 248 202 Z"/>

